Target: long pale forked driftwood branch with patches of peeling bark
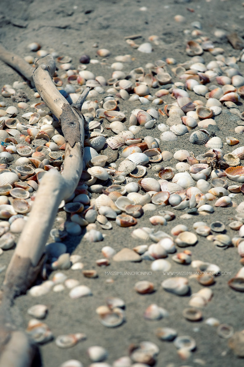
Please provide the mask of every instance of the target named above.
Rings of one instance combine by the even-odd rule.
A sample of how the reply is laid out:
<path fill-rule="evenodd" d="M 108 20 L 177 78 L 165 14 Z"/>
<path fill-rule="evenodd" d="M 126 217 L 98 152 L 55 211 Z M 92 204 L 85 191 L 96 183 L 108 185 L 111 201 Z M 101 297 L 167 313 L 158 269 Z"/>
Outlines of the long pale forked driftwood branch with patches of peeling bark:
<path fill-rule="evenodd" d="M 42 100 L 59 119 L 66 141 L 63 172 L 51 169 L 42 178 L 29 219 L 19 237 L 0 291 L 0 367 L 31 366 L 36 346 L 11 320 L 11 304 L 36 280 L 44 259 L 45 244 L 60 202 L 75 190 L 84 153 L 84 122 L 81 106 L 89 88 L 69 105 L 52 81 L 55 61 L 48 55 L 32 68 L 19 56 L 0 46 L 0 59 L 34 83 Z M 37 225 L 38 224 L 38 225 Z"/>

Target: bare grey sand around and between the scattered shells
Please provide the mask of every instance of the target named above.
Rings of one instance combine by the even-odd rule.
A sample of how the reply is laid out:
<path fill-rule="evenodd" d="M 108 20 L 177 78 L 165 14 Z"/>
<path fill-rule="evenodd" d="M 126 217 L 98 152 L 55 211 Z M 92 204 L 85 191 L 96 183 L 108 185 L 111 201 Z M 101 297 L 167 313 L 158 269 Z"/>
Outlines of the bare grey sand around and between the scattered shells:
<path fill-rule="evenodd" d="M 147 11 L 140 11 L 140 7 L 146 6 Z M 187 10 L 192 8 L 194 12 Z M 185 17 L 185 23 L 174 21 L 174 16 L 181 14 Z M 217 39 L 214 30 L 217 28 L 229 32 L 237 32 L 243 36 L 243 14 L 244 7 L 241 1 L 219 1 L 204 0 L 191 1 L 77 1 L 59 0 L 50 1 L 1 1 L 0 16 L 0 38 L 3 45 L 21 55 L 22 57 L 30 54 L 27 45 L 30 42 L 39 42 L 43 49 L 56 51 L 59 55 L 69 55 L 72 63 L 79 65 L 79 58 L 82 54 L 88 54 L 92 59 L 99 59 L 96 55 L 97 48 L 92 47 L 94 43 L 99 48 L 108 48 L 111 55 L 105 61 L 95 65 L 88 65 L 88 70 L 95 75 L 103 75 L 106 79 L 111 77 L 110 65 L 114 62 L 117 55 L 130 54 L 133 62 L 125 64 L 125 71 L 129 72 L 137 66 L 145 67 L 147 62 L 154 62 L 157 59 L 174 57 L 177 62 L 184 62 L 189 59 L 185 54 L 185 44 L 190 40 L 191 34 L 184 34 L 185 29 L 190 32 L 194 29 L 191 22 L 200 21 L 202 24 L 203 36 L 208 36 L 216 47 L 223 47 L 225 55 L 239 55 L 239 50 L 234 50 L 228 41 Z M 142 35 L 135 40 L 136 43 L 147 41 L 148 36 L 156 34 L 159 36 L 160 45 L 154 45 L 151 54 L 143 54 L 131 48 L 124 40 L 125 36 L 131 34 Z M 214 59 L 209 52 L 204 52 L 206 62 Z M 240 71 L 244 74 L 244 63 L 239 63 Z M 14 81 L 21 81 L 18 75 L 7 65 L 0 63 L 1 86 L 12 84 Z M 176 79 L 174 80 L 176 81 Z M 26 93 L 30 98 L 30 104 L 34 103 L 33 91 L 26 86 Z M 152 90 L 153 94 L 153 90 Z M 196 99 L 193 92 L 190 96 Z M 170 96 L 166 96 L 164 103 L 171 101 Z M 197 99 L 205 100 L 204 97 Z M 120 109 L 126 113 L 125 125 L 128 127 L 130 111 L 140 106 L 140 102 L 121 103 Z M 153 105 L 152 105 L 153 106 Z M 239 105 L 243 111 L 243 100 Z M 166 117 L 160 117 L 157 123 L 166 121 Z M 215 118 L 219 131 L 217 136 L 225 142 L 228 135 L 237 136 L 234 127 L 237 126 L 236 116 L 230 115 L 227 109 Z M 104 121 L 106 124 L 106 121 Z M 109 133 L 108 133 L 109 135 Z M 152 135 L 159 137 L 160 132 L 156 127 L 151 130 L 143 129 L 139 134 L 141 137 Z M 244 145 L 244 138 L 238 135 L 239 145 Z M 189 135 L 178 139 L 177 143 L 165 143 L 160 146 L 162 150 L 167 149 L 175 152 L 178 149 L 188 149 L 193 151 L 195 156 L 205 152 L 204 146 L 193 146 L 189 143 Z M 224 145 L 223 152 L 233 149 Z M 177 161 L 172 160 L 167 164 L 174 166 Z M 149 170 L 148 170 L 149 172 Z M 231 181 L 229 181 L 230 183 Z M 231 183 L 233 184 L 233 182 Z M 234 198 L 237 204 L 243 200 L 242 194 Z M 47 208 L 48 210 L 48 208 Z M 153 213 L 154 214 L 154 213 Z M 234 208 L 217 208 L 214 214 L 204 217 L 196 215 L 193 219 L 181 219 L 182 211 L 175 212 L 176 219 L 168 222 L 165 230 L 170 233 L 170 229 L 176 224 L 185 224 L 192 229 L 193 221 L 204 220 L 208 223 L 216 219 L 221 221 L 228 228 L 228 224 L 234 220 L 236 211 Z M 135 228 L 150 226 L 148 218 L 151 212 L 145 213 L 138 219 Z M 38 225 L 38 222 L 37 222 Z M 234 331 L 242 330 L 243 326 L 243 294 L 235 292 L 228 287 L 228 280 L 231 279 L 240 268 L 239 255 L 234 247 L 222 250 L 215 247 L 204 237 L 198 236 L 198 243 L 191 247 L 192 259 L 201 259 L 206 262 L 217 264 L 222 271 L 229 272 L 228 275 L 221 275 L 216 278 L 216 283 L 211 287 L 214 297 L 203 308 L 203 321 L 191 323 L 182 316 L 182 310 L 187 307 L 189 295 L 179 297 L 163 291 L 161 283 L 167 276 L 160 272 L 153 272 L 152 275 L 106 275 L 109 272 L 150 272 L 151 261 L 140 263 L 116 263 L 111 261 L 107 268 L 97 268 L 95 259 L 101 258 L 101 248 L 105 245 L 112 246 L 116 251 L 123 247 L 133 248 L 140 241 L 135 240 L 130 235 L 134 228 L 119 228 L 113 224 L 110 231 L 103 230 L 106 234 L 103 242 L 89 243 L 82 240 L 82 236 L 68 237 L 64 241 L 68 251 L 72 254 L 80 254 L 85 269 L 96 269 L 99 277 L 97 279 L 85 278 L 79 270 L 65 270 L 68 277 L 80 280 L 81 284 L 86 284 L 92 290 L 91 297 L 71 300 L 68 290 L 60 293 L 49 292 L 40 298 L 33 298 L 30 295 L 23 295 L 16 299 L 14 305 L 14 317 L 16 323 L 25 328 L 30 317 L 27 315 L 27 308 L 36 303 L 43 303 L 48 306 L 49 313 L 45 320 L 51 328 L 54 336 L 82 332 L 87 335 L 87 340 L 78 343 L 70 349 L 59 349 L 55 342 L 49 342 L 40 347 L 41 364 L 44 367 L 58 367 L 68 359 L 78 359 L 84 366 L 88 366 L 90 361 L 86 355 L 86 349 L 92 345 L 101 345 L 108 350 L 109 357 L 107 362 L 112 362 L 123 355 L 128 354 L 128 347 L 131 343 L 143 340 L 155 342 L 160 348 L 157 366 L 178 367 L 189 366 L 215 366 L 225 367 L 230 364 L 235 367 L 243 366 L 243 360 L 235 357 L 228 348 L 228 341 L 220 338 L 214 327 L 204 324 L 208 317 L 217 317 L 221 323 L 232 325 Z M 157 228 L 158 229 L 158 228 Z M 228 234 L 233 237 L 236 232 L 228 229 Z M 7 265 L 13 250 L 6 251 L 0 258 L 0 264 Z M 174 263 L 172 271 L 193 271 L 191 265 L 183 266 Z M 0 273 L 3 280 L 4 271 Z M 50 276 L 51 279 L 52 275 Z M 107 283 L 112 279 L 112 283 Z M 140 295 L 134 291 L 134 284 L 138 280 L 149 280 L 155 285 L 155 292 L 150 295 Z M 189 279 L 191 292 L 200 289 L 200 284 L 195 279 Z M 121 297 L 126 304 L 126 322 L 118 328 L 106 328 L 102 326 L 96 315 L 96 308 L 105 303 L 108 296 Z M 148 305 L 156 303 L 169 311 L 169 317 L 159 321 L 148 321 L 143 318 L 143 313 Z M 177 330 L 178 335 L 191 335 L 196 340 L 196 351 L 192 353 L 189 360 L 182 361 L 177 356 L 176 348 L 171 342 L 159 341 L 155 336 L 157 327 L 169 326 Z M 201 361 L 202 360 L 202 361 Z M 35 366 L 38 364 L 36 363 Z"/>

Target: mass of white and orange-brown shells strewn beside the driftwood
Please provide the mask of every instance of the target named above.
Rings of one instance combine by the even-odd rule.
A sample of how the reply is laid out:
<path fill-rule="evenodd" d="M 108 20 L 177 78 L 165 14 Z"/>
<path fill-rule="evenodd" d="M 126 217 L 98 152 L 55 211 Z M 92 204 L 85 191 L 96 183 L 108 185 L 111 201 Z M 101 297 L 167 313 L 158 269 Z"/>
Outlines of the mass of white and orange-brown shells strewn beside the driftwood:
<path fill-rule="evenodd" d="M 155 45 L 157 40 L 156 36 L 149 37 Z M 192 259 L 192 249 L 202 237 L 217 248 L 236 247 L 244 265 L 244 166 L 241 165 L 244 146 L 239 146 L 244 132 L 244 116 L 239 110 L 244 96 L 244 77 L 239 67 L 244 61 L 243 53 L 239 58 L 224 57 L 217 47 L 206 45 L 205 41 L 189 40 L 186 54 L 191 58 L 178 65 L 174 59 L 167 58 L 129 70 L 131 55 L 117 56 L 111 64 L 110 78 L 91 71 L 92 65 L 100 61 L 88 55 L 81 57 L 77 68 L 69 56 L 57 57 L 59 70 L 53 83 L 70 103 L 76 102 L 86 87 L 90 88 L 82 106 L 86 119 L 84 169 L 73 195 L 60 203 L 55 228 L 50 232 L 52 242 L 46 245 L 47 262 L 42 271 L 45 281 L 29 290 L 32 297 L 51 291 L 66 291 L 72 302 L 93 297 L 90 287 L 68 278 L 65 270 L 82 270 L 85 278 L 97 278 L 99 272 L 84 269 L 81 256 L 70 255 L 63 241 L 67 236 L 83 235 L 84 241 L 100 242 L 106 238 L 106 232 L 118 227 L 128 227 L 134 248 L 125 247 L 117 252 L 104 246 L 95 265 L 147 260 L 151 261 L 152 272 L 163 272 L 163 276 L 168 275 L 175 263 L 182 268 L 191 266 L 196 273 L 194 281 L 203 286 L 196 293 L 191 294 L 189 279 L 182 276 L 163 278 L 160 290 L 147 279 L 134 285 L 138 297 L 155 291 L 169 292 L 172 297 L 191 294 L 189 307 L 182 313 L 186 321 L 205 319 L 199 308 L 204 309 L 211 301 L 213 291 L 209 286 L 218 281 L 221 273 L 216 264 Z M 152 53 L 150 42 L 138 46 L 133 40 L 127 40 L 137 51 L 147 54 Z M 29 49 L 43 57 L 46 52 L 39 46 L 32 43 Z M 204 61 L 201 56 L 204 51 L 213 55 L 212 61 Z M 110 51 L 101 48 L 97 55 L 108 57 Z M 14 247 L 45 172 L 55 169 L 62 173 L 65 159 L 64 137 L 45 103 L 28 104 L 27 98 L 14 105 L 9 103 L 18 101 L 18 83 L 5 84 L 1 90 L 1 251 Z M 131 106 L 130 113 L 123 109 L 123 101 Z M 238 126 L 233 131 L 236 136 L 223 139 L 217 136 L 223 135 L 218 116 L 226 112 L 238 119 Z M 191 149 L 185 147 L 186 141 Z M 179 149 L 182 147 L 189 150 Z M 216 220 L 222 208 L 229 207 L 236 207 L 234 221 L 224 224 Z M 148 227 L 140 224 L 146 212 L 150 213 Z M 199 215 L 200 219 L 195 220 Z M 201 220 L 209 215 L 210 221 Z M 175 217 L 175 225 L 167 230 L 168 222 Z M 189 225 L 183 219 L 190 219 Z M 236 235 L 229 235 L 226 229 L 236 231 L 229 232 Z M 64 272 L 58 271 L 48 278 L 53 270 Z M 243 268 L 228 284 L 235 291 L 244 291 Z M 126 322 L 124 309 L 122 299 L 106 299 L 106 305 L 96 309 L 99 323 L 104 327 L 122 326 Z M 47 324 L 40 321 L 47 313 L 45 305 L 28 309 L 28 314 L 35 319 L 29 321 L 27 333 L 40 344 L 54 338 Z M 160 320 L 168 312 L 160 305 L 151 304 L 143 316 L 146 320 Z M 211 317 L 205 322 L 211 326 L 219 323 Z M 240 339 L 243 343 L 243 333 L 240 333 L 234 334 L 229 325 L 218 324 L 217 334 L 230 338 L 230 348 L 239 356 L 242 352 L 236 345 Z M 177 336 L 174 328 L 160 327 L 155 334 L 161 341 L 173 341 L 183 360 L 196 348 L 191 336 Z M 85 339 L 86 335 L 78 332 L 59 335 L 55 343 L 59 348 L 69 348 Z M 125 366 L 126 362 L 120 364 L 122 358 L 127 358 L 127 362 L 129 359 L 128 366 L 132 363 L 152 366 L 159 350 L 149 341 L 133 344 L 129 356 L 121 357 L 114 366 Z M 108 356 L 101 346 L 91 346 L 87 353 L 93 362 L 102 362 Z M 67 361 L 62 366 L 80 366 L 79 361 L 75 363 Z"/>

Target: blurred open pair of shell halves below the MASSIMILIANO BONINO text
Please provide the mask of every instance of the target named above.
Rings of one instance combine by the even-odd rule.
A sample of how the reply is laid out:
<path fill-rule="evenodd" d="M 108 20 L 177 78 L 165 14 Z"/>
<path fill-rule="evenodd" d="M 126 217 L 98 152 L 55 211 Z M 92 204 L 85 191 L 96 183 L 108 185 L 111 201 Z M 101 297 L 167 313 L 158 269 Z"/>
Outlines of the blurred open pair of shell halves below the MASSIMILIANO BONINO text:
<path fill-rule="evenodd" d="M 125 321 L 125 313 L 119 307 L 111 310 L 107 306 L 100 306 L 96 309 L 96 313 L 99 315 L 100 323 L 106 327 L 116 327 Z"/>

